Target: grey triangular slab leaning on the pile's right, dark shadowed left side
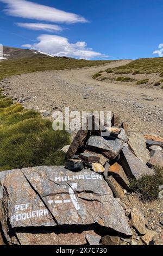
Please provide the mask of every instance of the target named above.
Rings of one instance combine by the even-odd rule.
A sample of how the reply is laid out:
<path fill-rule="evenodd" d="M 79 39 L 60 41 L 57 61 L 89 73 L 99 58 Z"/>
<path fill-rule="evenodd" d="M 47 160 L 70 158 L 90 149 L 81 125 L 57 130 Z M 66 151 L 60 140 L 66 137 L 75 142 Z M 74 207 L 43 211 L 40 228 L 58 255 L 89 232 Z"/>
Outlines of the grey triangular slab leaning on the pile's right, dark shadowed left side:
<path fill-rule="evenodd" d="M 122 167 L 128 178 L 139 180 L 143 175 L 153 175 L 154 171 L 141 160 L 139 160 L 131 151 L 124 147 L 120 154 Z"/>

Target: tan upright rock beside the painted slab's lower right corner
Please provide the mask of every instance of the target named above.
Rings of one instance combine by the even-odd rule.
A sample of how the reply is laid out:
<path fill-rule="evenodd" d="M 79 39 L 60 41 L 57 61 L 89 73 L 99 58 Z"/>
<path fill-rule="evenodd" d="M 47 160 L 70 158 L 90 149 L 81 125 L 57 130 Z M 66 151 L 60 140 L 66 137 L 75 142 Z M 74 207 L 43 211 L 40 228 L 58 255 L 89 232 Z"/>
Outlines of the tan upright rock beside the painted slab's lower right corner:
<path fill-rule="evenodd" d="M 131 221 L 133 222 L 133 227 L 139 232 L 140 235 L 145 235 L 146 225 L 145 225 L 145 218 L 140 209 L 136 206 L 133 207 L 131 210 Z"/>

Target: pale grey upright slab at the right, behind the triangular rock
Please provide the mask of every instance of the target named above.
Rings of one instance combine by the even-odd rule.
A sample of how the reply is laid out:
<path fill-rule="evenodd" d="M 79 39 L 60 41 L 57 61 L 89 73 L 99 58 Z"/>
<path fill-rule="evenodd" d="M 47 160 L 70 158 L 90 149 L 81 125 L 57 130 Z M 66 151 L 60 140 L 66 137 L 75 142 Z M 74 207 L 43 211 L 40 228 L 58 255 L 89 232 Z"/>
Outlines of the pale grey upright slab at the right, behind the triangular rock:
<path fill-rule="evenodd" d="M 146 139 L 143 135 L 135 132 L 131 133 L 128 144 L 135 156 L 137 156 L 143 163 L 146 164 L 149 161 L 149 151 L 146 148 Z"/>

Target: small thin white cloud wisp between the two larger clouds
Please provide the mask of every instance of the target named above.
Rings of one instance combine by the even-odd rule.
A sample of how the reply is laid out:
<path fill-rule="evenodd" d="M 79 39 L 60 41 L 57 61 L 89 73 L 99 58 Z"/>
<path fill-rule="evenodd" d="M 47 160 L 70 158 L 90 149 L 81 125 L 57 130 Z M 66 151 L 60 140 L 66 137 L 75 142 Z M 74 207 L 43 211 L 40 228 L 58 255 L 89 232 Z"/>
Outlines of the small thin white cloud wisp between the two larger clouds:
<path fill-rule="evenodd" d="M 52 25 L 52 24 L 44 24 L 44 23 L 16 23 L 17 26 L 22 28 L 28 28 L 33 29 L 36 31 L 47 31 L 47 32 L 56 32 L 56 31 L 62 31 L 62 28 L 58 25 Z"/>

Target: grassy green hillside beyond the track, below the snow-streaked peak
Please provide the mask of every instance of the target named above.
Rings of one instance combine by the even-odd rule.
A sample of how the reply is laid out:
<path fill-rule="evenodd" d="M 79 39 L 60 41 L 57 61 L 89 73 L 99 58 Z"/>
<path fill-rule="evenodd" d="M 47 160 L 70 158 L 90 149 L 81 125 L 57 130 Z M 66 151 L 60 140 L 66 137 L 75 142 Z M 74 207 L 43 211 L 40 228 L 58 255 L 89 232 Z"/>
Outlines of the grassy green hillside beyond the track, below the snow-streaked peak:
<path fill-rule="evenodd" d="M 27 74 L 35 71 L 84 68 L 111 63 L 113 60 L 85 60 L 64 57 L 32 57 L 6 60 L 0 65 L 0 80 L 12 75 Z"/>

